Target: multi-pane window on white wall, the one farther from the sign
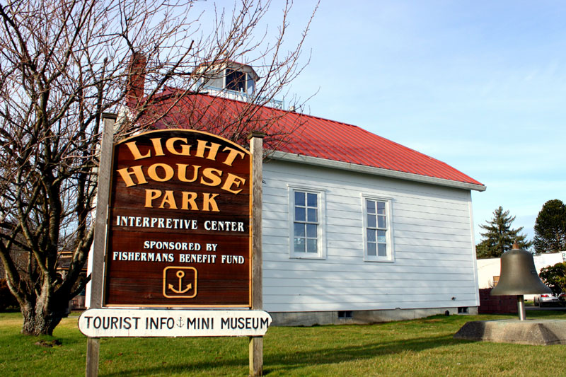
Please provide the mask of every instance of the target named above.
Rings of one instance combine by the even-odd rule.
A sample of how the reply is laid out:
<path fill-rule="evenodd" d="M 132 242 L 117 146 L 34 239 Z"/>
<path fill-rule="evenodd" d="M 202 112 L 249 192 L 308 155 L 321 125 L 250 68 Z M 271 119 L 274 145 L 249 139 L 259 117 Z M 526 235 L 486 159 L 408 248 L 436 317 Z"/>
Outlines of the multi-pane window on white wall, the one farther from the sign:
<path fill-rule="evenodd" d="M 364 200 L 364 257 L 369 261 L 392 262 L 391 200 Z"/>

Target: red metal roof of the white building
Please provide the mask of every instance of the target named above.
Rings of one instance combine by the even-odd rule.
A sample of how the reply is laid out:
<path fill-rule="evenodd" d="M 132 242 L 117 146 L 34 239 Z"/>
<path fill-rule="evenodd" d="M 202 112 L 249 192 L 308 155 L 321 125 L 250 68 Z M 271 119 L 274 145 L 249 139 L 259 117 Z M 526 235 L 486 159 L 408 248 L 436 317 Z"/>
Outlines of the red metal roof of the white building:
<path fill-rule="evenodd" d="M 267 131 L 265 147 L 277 151 L 483 186 L 442 161 L 352 124 L 206 94 L 175 102 L 171 93 L 154 102 L 156 113 L 169 109 L 156 127 L 202 129 L 232 139 L 259 129 Z"/>

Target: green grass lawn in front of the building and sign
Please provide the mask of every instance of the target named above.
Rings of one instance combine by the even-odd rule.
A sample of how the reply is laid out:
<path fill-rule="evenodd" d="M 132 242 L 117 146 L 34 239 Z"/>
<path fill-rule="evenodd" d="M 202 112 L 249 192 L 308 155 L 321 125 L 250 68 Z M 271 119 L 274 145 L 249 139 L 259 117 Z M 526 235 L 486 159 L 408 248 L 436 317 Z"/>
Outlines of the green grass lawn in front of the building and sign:
<path fill-rule="evenodd" d="M 516 315 L 434 316 L 376 325 L 272 327 L 264 340 L 268 376 L 566 376 L 566 345 L 454 340 L 470 320 Z M 566 320 L 566 312 L 527 318 Z M 0 377 L 84 376 L 86 337 L 78 315 L 53 337 L 20 335 L 21 315 L 0 313 Z M 58 340 L 45 347 L 37 342 Z M 100 376 L 247 376 L 248 338 L 103 338 Z"/>

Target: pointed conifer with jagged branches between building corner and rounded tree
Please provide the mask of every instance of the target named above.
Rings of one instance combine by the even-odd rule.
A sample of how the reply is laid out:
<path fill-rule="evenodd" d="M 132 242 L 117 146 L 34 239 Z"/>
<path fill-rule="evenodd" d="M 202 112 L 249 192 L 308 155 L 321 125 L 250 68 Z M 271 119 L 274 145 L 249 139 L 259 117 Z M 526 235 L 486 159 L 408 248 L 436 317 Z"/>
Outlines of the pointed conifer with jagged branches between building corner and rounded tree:
<path fill-rule="evenodd" d="M 493 211 L 493 219 L 486 221 L 486 225 L 480 225 L 485 233 L 480 233 L 483 240 L 475 246 L 475 255 L 478 258 L 500 257 L 507 250 L 511 250 L 516 242 L 521 249 L 528 249 L 532 243 L 526 240 L 526 236 L 519 234 L 523 227 L 512 229 L 511 224 L 515 216 L 509 215 L 509 211 L 499 208 Z"/>

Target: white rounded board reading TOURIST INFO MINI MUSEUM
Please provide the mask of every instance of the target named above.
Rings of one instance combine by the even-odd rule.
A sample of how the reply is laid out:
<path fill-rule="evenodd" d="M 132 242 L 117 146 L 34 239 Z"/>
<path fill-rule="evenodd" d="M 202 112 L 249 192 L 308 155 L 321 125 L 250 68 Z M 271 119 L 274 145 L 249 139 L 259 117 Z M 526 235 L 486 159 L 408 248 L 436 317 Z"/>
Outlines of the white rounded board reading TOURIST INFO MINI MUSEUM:
<path fill-rule="evenodd" d="M 87 337 L 260 337 L 271 324 L 265 311 L 89 309 L 79 318 Z"/>

